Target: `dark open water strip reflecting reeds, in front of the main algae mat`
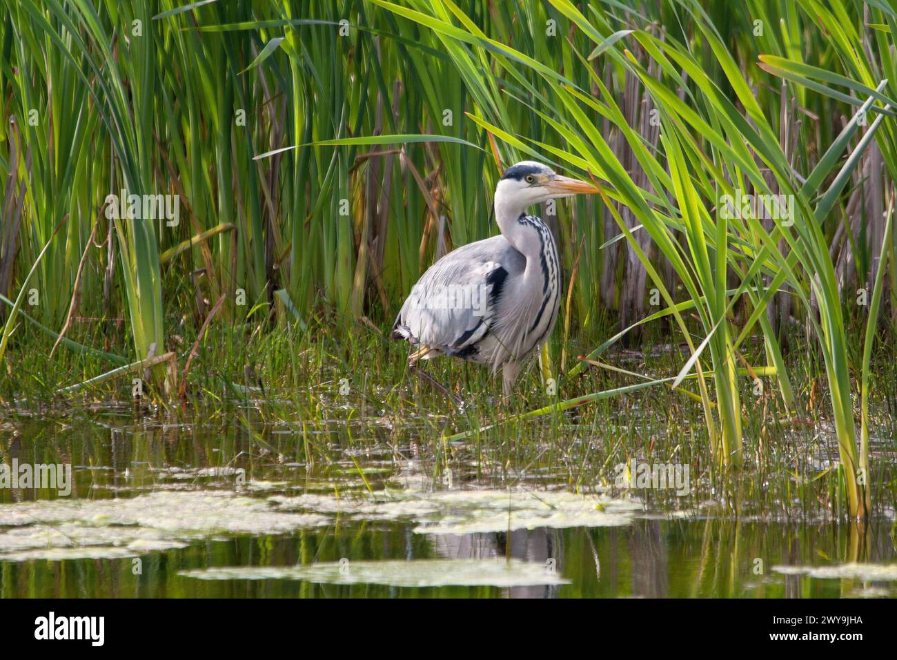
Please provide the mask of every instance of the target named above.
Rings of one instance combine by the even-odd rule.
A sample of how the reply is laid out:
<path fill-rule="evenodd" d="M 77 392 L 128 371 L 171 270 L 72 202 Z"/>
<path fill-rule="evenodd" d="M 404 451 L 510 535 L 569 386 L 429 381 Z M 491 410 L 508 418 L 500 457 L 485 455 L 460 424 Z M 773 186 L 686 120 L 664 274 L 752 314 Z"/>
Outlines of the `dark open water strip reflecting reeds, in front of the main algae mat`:
<path fill-rule="evenodd" d="M 869 560 L 895 561 L 884 526 L 870 536 Z M 132 559 L 0 561 L 3 597 L 748 597 L 808 598 L 892 594 L 893 581 L 781 575 L 775 565 L 838 561 L 846 539 L 833 526 L 808 528 L 725 521 L 638 520 L 627 528 L 534 529 L 475 534 L 417 534 L 410 525 L 361 524 L 292 535 L 245 535 L 195 542 Z M 841 555 L 843 556 L 843 555 Z M 568 585 L 498 588 L 451 585 L 327 585 L 292 580 L 204 581 L 179 572 L 208 567 L 291 567 L 376 559 L 555 560 Z M 756 573 L 755 559 L 762 560 Z"/>

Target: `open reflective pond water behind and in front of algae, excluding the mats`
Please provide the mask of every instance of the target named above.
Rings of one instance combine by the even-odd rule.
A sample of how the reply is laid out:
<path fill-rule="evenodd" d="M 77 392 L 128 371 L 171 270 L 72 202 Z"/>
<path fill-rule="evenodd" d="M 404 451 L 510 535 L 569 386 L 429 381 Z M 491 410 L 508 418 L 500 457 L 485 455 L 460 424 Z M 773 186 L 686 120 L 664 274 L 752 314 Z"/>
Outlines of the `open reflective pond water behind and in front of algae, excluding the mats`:
<path fill-rule="evenodd" d="M 410 443 L 356 446 L 334 443 L 327 460 L 302 462 L 304 436 L 254 436 L 233 422 L 228 429 L 200 425 L 131 428 L 95 420 L 59 431 L 55 423 L 0 434 L 0 459 L 9 462 L 71 462 L 72 498 L 105 500 L 158 491 L 233 492 L 244 471 L 245 497 L 294 497 L 321 493 L 367 497 L 369 489 L 449 488 L 440 457 Z M 329 451 L 329 450 L 328 450 Z M 351 458 L 347 458 L 351 456 Z M 226 466 L 210 471 L 210 466 Z M 534 471 L 526 482 L 534 492 L 556 483 Z M 500 471 L 499 471 L 500 472 Z M 472 463 L 455 467 L 450 490 L 508 488 L 506 480 Z M 561 484 L 564 480 L 555 480 Z M 516 487 L 521 484 L 517 483 Z M 34 489 L 0 490 L 0 506 L 53 499 Z M 892 509 L 887 509 L 891 511 Z M 501 513 L 501 511 L 500 511 Z M 685 514 L 684 516 L 682 514 Z M 657 514 L 657 512 L 655 512 Z M 897 577 L 821 578 L 790 575 L 776 567 L 838 566 L 848 562 L 897 562 L 893 521 L 879 516 L 865 533 L 846 524 L 737 521 L 693 507 L 676 515 L 637 511 L 622 526 L 536 526 L 504 532 L 422 533 L 412 516 L 333 516 L 317 528 L 215 532 L 187 539 L 170 550 L 135 551 L 106 559 L 4 559 L 0 542 L 0 597 L 747 597 L 813 598 L 897 595 Z M 770 516 L 771 518 L 772 516 Z M 814 518 L 810 518 L 814 520 Z M 90 525 L 91 521 L 78 524 Z M 0 536 L 11 529 L 0 523 Z M 494 529 L 498 529 L 497 527 Z M 179 539 L 180 540 L 180 539 Z M 122 546 L 125 547 L 125 546 Z M 8 549 L 7 549 L 8 550 Z M 39 549 L 38 549 L 39 550 Z M 8 552 L 6 552 L 8 555 Z M 39 552 L 36 554 L 39 555 Z M 396 586 L 327 584 L 296 579 L 202 580 L 188 570 L 211 567 L 294 567 L 347 560 L 377 561 L 506 558 L 554 571 L 569 584 L 515 586 Z M 134 559 L 140 560 L 135 571 Z"/>

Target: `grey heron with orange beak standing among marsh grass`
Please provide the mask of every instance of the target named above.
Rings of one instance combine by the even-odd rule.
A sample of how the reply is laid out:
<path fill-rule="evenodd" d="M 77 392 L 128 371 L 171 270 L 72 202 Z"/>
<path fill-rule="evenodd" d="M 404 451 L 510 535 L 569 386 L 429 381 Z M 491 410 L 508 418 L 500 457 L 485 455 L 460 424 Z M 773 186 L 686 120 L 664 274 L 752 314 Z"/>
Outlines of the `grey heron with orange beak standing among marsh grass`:
<path fill-rule="evenodd" d="M 405 300 L 393 339 L 404 339 L 418 360 L 454 356 L 502 368 L 505 396 L 521 365 L 552 334 L 561 304 L 561 262 L 551 230 L 534 204 L 596 193 L 584 181 L 554 173 L 542 163 L 510 166 L 495 189 L 500 235 L 468 243 L 437 260 Z"/>

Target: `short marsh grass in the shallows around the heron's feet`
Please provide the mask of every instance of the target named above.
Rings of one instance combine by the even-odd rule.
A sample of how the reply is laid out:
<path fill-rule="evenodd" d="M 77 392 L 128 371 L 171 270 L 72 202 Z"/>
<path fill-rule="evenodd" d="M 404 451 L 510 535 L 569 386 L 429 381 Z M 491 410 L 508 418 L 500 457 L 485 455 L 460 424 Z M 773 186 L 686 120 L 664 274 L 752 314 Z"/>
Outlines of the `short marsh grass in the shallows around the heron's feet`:
<path fill-rule="evenodd" d="M 78 451 L 108 451 L 102 449 L 107 443 L 99 436 L 98 444 L 77 448 L 83 428 L 97 428 L 91 422 L 96 419 L 107 420 L 97 428 L 101 433 L 108 433 L 102 426 L 109 424 L 127 429 L 128 435 L 151 439 L 147 448 L 169 447 L 152 459 L 156 467 L 210 462 L 245 467 L 252 479 L 283 478 L 297 486 L 333 482 L 361 492 L 376 490 L 394 480 L 405 462 L 414 458 L 421 462 L 422 479 L 430 488 L 446 488 L 449 483 L 455 488 L 526 485 L 588 493 L 614 487 L 620 463 L 679 463 L 691 472 L 685 497 L 666 490 L 614 488 L 613 492 L 640 497 L 649 511 L 760 520 L 839 517 L 837 436 L 824 405 L 827 393 L 819 358 L 809 347 L 796 350 L 788 365 L 799 383 L 797 412 L 781 406 L 770 388 L 757 397 L 746 374 L 738 379 L 744 402 L 745 462 L 741 469 L 721 470 L 710 460 L 711 440 L 700 398 L 653 388 L 521 420 L 516 416 L 554 400 L 545 394 L 535 370 L 523 379 L 518 400 L 508 405 L 501 402 L 500 385 L 483 370 L 450 360 L 432 361 L 426 368 L 465 401 L 459 411 L 429 383 L 409 373 L 403 347 L 385 341 L 376 330 L 359 324 L 347 329 L 345 336 L 335 336 L 315 325 L 330 320 L 310 322 L 305 330 L 290 324 L 278 333 L 259 333 L 249 325 L 209 330 L 188 375 L 186 399 L 169 407 L 153 402 L 150 392 L 134 400 L 129 377 L 100 383 L 75 396 L 55 396 L 77 374 L 94 374 L 109 365 L 74 352 L 50 360 L 39 350 L 26 355 L 13 351 L 7 358 L 9 368 L 27 368 L 35 375 L 17 379 L 21 389 L 3 392 L 4 399 L 19 401 L 4 408 L 0 430 L 4 454 L 17 435 L 30 441 L 44 437 L 39 444 L 46 442 L 48 456 L 62 452 L 76 461 L 105 464 L 99 454 L 75 456 Z M 860 320 L 855 322 L 862 327 Z M 97 328 L 85 326 L 75 330 L 72 339 L 98 340 Z M 28 345 L 51 345 L 43 333 L 30 331 L 38 334 L 28 338 Z M 124 335 L 124 331 L 118 337 L 105 335 L 110 350 L 126 346 Z M 181 350 L 186 351 L 195 338 L 182 339 L 186 348 Z M 605 358 L 649 377 L 681 367 L 685 346 L 671 349 L 664 337 L 652 337 L 650 332 L 646 339 L 644 349 L 621 349 Z M 588 340 L 584 343 L 588 346 Z M 582 348 L 576 343 L 568 347 L 573 354 Z M 557 341 L 552 350 L 555 355 L 560 351 Z M 888 440 L 895 430 L 889 408 L 897 377 L 893 350 L 892 345 L 884 348 L 869 387 L 871 484 L 882 493 L 873 508 L 876 517 L 897 496 L 897 455 Z M 745 358 L 761 354 L 762 344 L 757 343 Z M 343 379 L 348 386 L 344 394 Z M 562 396 L 613 390 L 633 382 L 637 380 L 631 376 L 590 367 L 564 386 Z M 686 381 L 684 387 L 694 391 L 693 383 Z M 449 439 L 472 428 L 486 430 Z M 113 432 L 113 440 L 115 436 Z M 230 439 L 222 444 L 224 437 Z M 181 444 L 178 438 L 190 439 L 183 450 L 175 449 Z M 136 445 L 128 441 L 127 446 Z M 301 466 L 300 473 L 284 465 Z M 367 471 L 371 467 L 378 470 Z"/>

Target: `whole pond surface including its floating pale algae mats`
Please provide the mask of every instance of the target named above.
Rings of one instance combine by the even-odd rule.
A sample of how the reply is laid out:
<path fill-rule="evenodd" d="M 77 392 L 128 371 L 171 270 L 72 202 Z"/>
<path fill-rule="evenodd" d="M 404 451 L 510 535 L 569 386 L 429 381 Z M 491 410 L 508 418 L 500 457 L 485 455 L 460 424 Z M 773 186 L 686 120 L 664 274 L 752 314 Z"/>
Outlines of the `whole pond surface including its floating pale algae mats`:
<path fill-rule="evenodd" d="M 562 458 L 448 460 L 460 445 L 382 426 L 362 440 L 346 425 L 162 422 L 128 406 L 4 423 L 0 462 L 69 464 L 72 483 L 66 497 L 0 488 L 0 596 L 897 594 L 893 506 L 858 555 L 849 525 L 824 516 L 658 504 L 571 483 Z"/>

